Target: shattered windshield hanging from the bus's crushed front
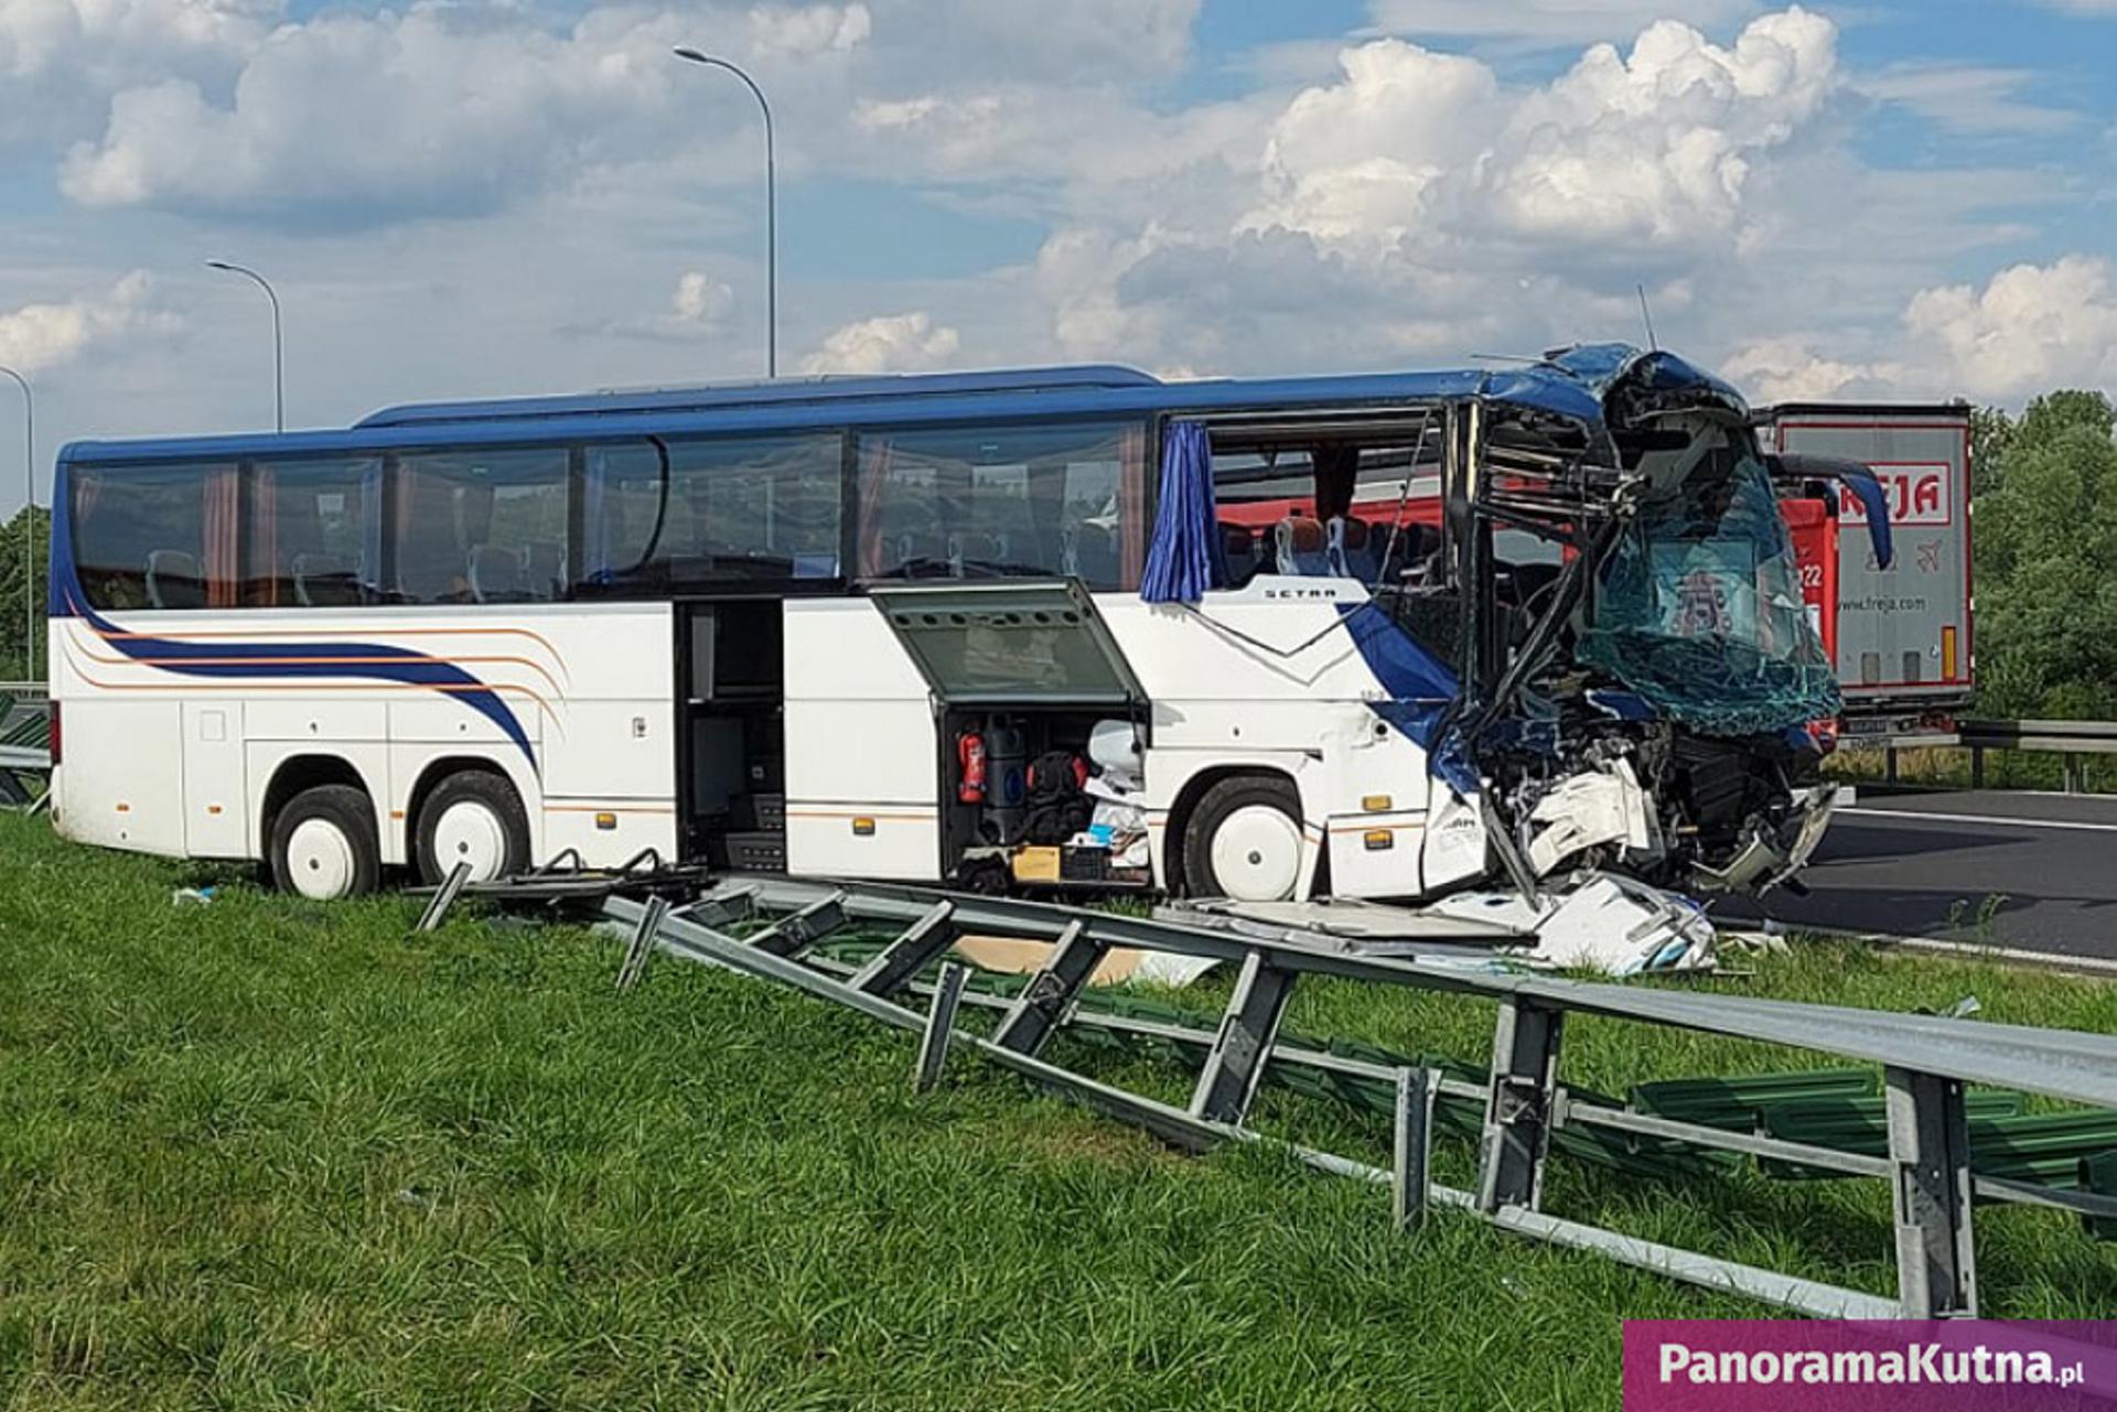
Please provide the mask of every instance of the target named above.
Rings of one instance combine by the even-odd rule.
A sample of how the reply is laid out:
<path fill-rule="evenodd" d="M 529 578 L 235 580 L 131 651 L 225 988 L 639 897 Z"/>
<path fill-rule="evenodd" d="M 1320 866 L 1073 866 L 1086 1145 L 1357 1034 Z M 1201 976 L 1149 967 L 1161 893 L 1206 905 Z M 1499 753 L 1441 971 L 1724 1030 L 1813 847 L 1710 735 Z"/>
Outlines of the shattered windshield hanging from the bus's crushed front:
<path fill-rule="evenodd" d="M 1802 603 L 1793 538 L 1744 432 L 1713 445 L 1624 529 L 1579 658 L 1706 735 L 1761 735 L 1840 707 Z"/>

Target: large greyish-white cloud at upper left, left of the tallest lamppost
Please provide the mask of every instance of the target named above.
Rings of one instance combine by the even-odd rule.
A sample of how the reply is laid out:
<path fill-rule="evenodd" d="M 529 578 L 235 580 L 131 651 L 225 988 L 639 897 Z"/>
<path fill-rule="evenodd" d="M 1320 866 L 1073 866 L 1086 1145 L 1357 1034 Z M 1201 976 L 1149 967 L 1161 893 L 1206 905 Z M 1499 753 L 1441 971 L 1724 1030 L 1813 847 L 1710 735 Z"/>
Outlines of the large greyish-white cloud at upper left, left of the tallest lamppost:
<path fill-rule="evenodd" d="M 66 195 L 360 222 L 493 210 L 637 131 L 667 93 L 652 17 L 593 11 L 567 34 L 476 6 L 326 13 L 286 25 L 220 102 L 169 78 L 119 93 Z"/>

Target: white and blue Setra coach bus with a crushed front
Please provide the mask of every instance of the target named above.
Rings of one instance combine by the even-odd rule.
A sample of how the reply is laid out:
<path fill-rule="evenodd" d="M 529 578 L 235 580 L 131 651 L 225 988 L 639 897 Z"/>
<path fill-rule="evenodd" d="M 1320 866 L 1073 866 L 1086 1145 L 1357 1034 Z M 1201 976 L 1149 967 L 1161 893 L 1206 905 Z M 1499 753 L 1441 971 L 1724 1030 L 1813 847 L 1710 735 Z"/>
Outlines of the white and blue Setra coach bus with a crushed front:
<path fill-rule="evenodd" d="M 315 898 L 644 849 L 993 887 L 1035 843 L 1245 900 L 1761 887 L 1835 711 L 1742 400 L 1620 345 L 74 442 L 51 618 L 59 830 Z"/>

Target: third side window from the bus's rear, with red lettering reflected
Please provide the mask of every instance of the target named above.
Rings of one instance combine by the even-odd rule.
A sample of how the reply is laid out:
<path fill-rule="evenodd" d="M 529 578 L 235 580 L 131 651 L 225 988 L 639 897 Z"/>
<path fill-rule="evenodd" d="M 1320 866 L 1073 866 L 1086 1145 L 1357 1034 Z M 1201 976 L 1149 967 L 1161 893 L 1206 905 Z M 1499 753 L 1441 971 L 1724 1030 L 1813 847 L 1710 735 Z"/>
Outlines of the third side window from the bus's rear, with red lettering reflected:
<path fill-rule="evenodd" d="M 565 597 L 565 447 L 404 455 L 392 476 L 392 601 Z"/>

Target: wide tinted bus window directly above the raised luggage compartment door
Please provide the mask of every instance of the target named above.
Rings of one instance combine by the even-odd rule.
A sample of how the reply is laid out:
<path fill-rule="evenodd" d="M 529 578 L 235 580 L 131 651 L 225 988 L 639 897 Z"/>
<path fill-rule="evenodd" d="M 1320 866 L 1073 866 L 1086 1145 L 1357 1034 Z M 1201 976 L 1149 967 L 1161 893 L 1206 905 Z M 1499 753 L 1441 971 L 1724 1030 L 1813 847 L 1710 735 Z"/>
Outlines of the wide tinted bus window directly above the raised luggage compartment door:
<path fill-rule="evenodd" d="M 1073 576 L 1133 589 L 1145 428 L 1075 423 L 860 438 L 862 578 Z"/>

